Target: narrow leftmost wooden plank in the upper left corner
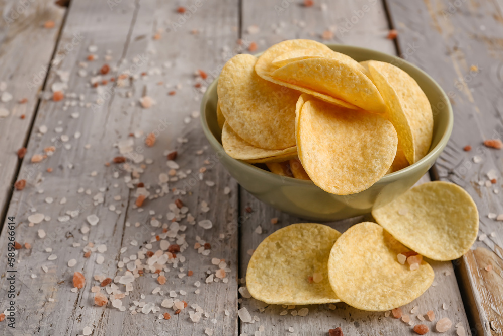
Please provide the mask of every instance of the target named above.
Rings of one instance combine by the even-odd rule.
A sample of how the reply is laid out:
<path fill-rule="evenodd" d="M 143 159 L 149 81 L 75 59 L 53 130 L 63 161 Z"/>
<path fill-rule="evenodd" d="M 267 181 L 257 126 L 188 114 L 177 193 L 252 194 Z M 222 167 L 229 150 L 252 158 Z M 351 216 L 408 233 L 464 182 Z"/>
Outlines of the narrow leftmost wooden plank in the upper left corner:
<path fill-rule="evenodd" d="M 0 9 L 0 82 L 7 84 L 0 94 L 12 95 L 12 100 L 0 102 L 0 108 L 10 112 L 8 117 L 0 117 L 0 218 L 3 218 L 20 164 L 16 153 L 28 140 L 38 94 L 47 75 L 65 10 L 53 0 L 4 0 L 0 2 Z M 54 22 L 53 28 L 44 28 L 48 20 Z M 58 51 L 62 58 L 70 51 L 65 45 L 61 46 L 63 48 Z M 27 101 L 20 104 L 23 98 Z"/>

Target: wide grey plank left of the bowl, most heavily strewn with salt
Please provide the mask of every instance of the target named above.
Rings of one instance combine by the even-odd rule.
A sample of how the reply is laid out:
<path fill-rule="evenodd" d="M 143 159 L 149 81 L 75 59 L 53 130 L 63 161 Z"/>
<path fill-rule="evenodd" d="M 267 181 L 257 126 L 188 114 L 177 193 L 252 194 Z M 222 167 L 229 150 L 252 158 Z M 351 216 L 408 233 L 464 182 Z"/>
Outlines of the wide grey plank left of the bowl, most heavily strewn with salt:
<path fill-rule="evenodd" d="M 211 74 L 219 69 L 224 61 L 222 50 L 232 51 L 235 46 L 238 33 L 232 27 L 237 26 L 237 3 L 227 1 L 221 6 L 213 6 L 204 2 L 190 19 L 180 27 L 175 26 L 176 31 L 172 22 L 178 22 L 179 13 L 178 6 L 172 3 L 123 0 L 112 2 L 117 6 L 109 7 L 110 3 L 96 0 L 72 2 L 70 5 L 60 44 L 68 43 L 75 33 L 84 36 L 84 42 L 75 46 L 74 52 L 51 71 L 48 85 L 59 81 L 56 70 L 68 71 L 69 88 L 66 92 L 83 94 L 85 106 L 77 102 L 76 106 L 63 109 L 65 101 L 78 98 L 66 98 L 61 102 L 43 100 L 40 103 L 27 158 L 42 153 L 50 145 L 57 149 L 38 165 L 29 163 L 29 160 L 23 162 L 21 173 L 33 173 L 28 178 L 28 186 L 14 193 L 9 206 L 9 216 L 16 217 L 16 240 L 32 245 L 32 249 L 18 250 L 17 254 L 16 322 L 19 324 L 13 334 L 77 335 L 82 334 L 86 326 L 93 329 L 93 335 L 190 335 L 203 334 L 207 327 L 212 328 L 214 334 L 235 334 L 237 185 L 220 166 L 217 156 L 209 150 L 193 112 L 199 110 L 202 96 L 199 89 L 194 90 L 194 83 L 206 85 L 201 79 L 194 78 L 194 72 L 203 69 Z M 187 3 L 188 9 L 189 5 Z M 194 29 L 198 29 L 197 34 L 191 33 Z M 156 40 L 153 37 L 158 30 L 160 39 Z M 92 45 L 97 47 L 96 51 L 89 51 Z M 81 68 L 79 63 L 86 61 L 90 53 L 96 54 L 98 59 L 88 62 L 87 68 Z M 106 55 L 111 59 L 106 60 Z M 123 86 L 114 89 L 110 89 L 110 84 L 102 86 L 112 91 L 110 95 L 99 95 L 97 89 L 88 83 L 104 63 L 112 68 L 105 79 L 117 78 L 123 71 L 129 70 L 134 80 L 127 80 Z M 88 72 L 86 77 L 77 75 L 82 69 Z M 146 76 L 141 75 L 144 72 Z M 158 85 L 161 81 L 164 84 Z M 170 91 L 176 91 L 176 94 L 168 95 Z M 156 104 L 143 109 L 138 100 L 145 93 Z M 103 104 L 97 104 L 100 97 L 104 100 Z M 86 103 L 92 103 L 91 107 L 86 107 Z M 79 113 L 78 118 L 74 118 L 75 112 Z M 39 130 L 44 125 L 48 131 L 42 134 Z M 57 127 L 61 127 L 62 132 L 56 132 Z M 143 136 L 129 137 L 130 133 L 138 131 L 143 131 Z M 145 146 L 144 138 L 149 132 L 157 134 L 153 147 Z M 74 137 L 76 133 L 79 137 Z M 69 137 L 67 142 L 63 135 Z M 62 139 L 63 143 L 60 142 Z M 134 150 L 127 156 L 134 159 L 141 154 L 145 159 L 138 163 L 128 161 L 127 169 L 116 164 L 107 167 L 105 163 L 121 155 L 115 144 L 126 139 L 133 139 L 134 142 Z M 64 146 L 68 144 L 71 148 Z M 170 171 L 166 166 L 165 152 L 172 150 L 178 151 L 176 162 L 181 167 L 179 172 L 184 172 L 187 177 L 170 181 L 170 192 L 146 199 L 142 207 L 144 211 L 139 212 L 135 206 L 136 187 L 128 187 L 125 179 L 131 177 L 131 183 L 136 185 L 138 172 L 139 181 L 144 183 L 151 195 L 159 195 L 159 174 Z M 199 174 L 202 167 L 206 171 Z M 52 168 L 52 173 L 47 173 L 47 168 Z M 192 172 L 187 172 L 189 169 Z M 224 194 L 226 187 L 230 190 L 228 194 Z M 176 195 L 174 188 L 185 189 L 186 194 Z M 95 198 L 99 193 L 102 193 L 103 203 L 94 205 L 96 198 L 100 198 Z M 47 204 L 46 197 L 52 197 L 53 203 Z M 60 204 L 63 197 L 67 201 Z M 151 218 L 162 215 L 158 221 L 171 225 L 166 213 L 171 212 L 169 205 L 177 198 L 189 208 L 195 222 L 210 219 L 213 228 L 205 230 L 197 224 L 189 224 L 186 219 L 179 221 L 180 225 L 187 226 L 179 234 L 185 235 L 188 246 L 177 253 L 179 262 L 176 268 L 171 263 L 166 266 L 169 271 L 166 272 L 167 282 L 159 285 L 151 273 L 144 273 L 134 281 L 130 294 L 122 299 L 123 306 L 127 308 L 125 312 L 113 308 L 110 302 L 107 307 L 95 306 L 91 287 L 99 286 L 99 282 L 93 277 L 103 275 L 113 279 L 122 276 L 126 267 L 118 267 L 118 262 L 135 255 L 155 235 L 162 236 L 163 229 L 152 226 Z M 208 212 L 202 210 L 203 200 L 208 203 Z M 76 211 L 76 217 L 67 222 L 58 221 L 68 211 Z M 27 217 L 33 213 L 42 213 L 51 219 L 31 227 Z M 91 214 L 100 219 L 96 226 L 87 223 L 86 218 Z M 138 227 L 136 222 L 140 223 Z M 83 226 L 90 228 L 89 233 L 83 233 Z M 2 237 L 6 237 L 6 227 Z M 39 238 L 39 229 L 45 230 L 47 236 L 44 239 Z M 196 236 L 211 244 L 208 256 L 198 254 L 194 249 Z M 175 239 L 166 240 L 175 243 Z M 87 241 L 95 246 L 105 244 L 107 250 L 102 253 L 94 251 L 85 258 L 83 247 Z M 73 243 L 81 243 L 81 246 L 73 247 Z M 46 252 L 46 247 L 52 248 L 52 252 Z M 158 248 L 159 243 L 152 243 L 152 251 Z M 2 239 L 0 251 L 6 249 L 7 240 Z M 50 254 L 58 258 L 48 260 Z M 97 263 L 100 255 L 104 257 L 102 264 Z M 206 271 L 215 274 L 218 269 L 211 263 L 215 257 L 225 259 L 230 268 L 227 283 L 205 283 Z M 76 260 L 75 266 L 68 267 L 70 259 Z M 48 268 L 47 273 L 42 270 L 42 265 Z M 5 275 L 7 265 L 4 261 L 1 267 Z M 193 271 L 191 277 L 179 278 L 180 273 L 187 274 L 189 270 Z M 85 287 L 77 293 L 71 292 L 74 271 L 81 272 L 86 279 Z M 32 274 L 36 278 L 32 278 Z M 201 282 L 200 287 L 194 286 L 196 281 Z M 124 286 L 117 285 L 124 292 Z M 2 311 L 7 308 L 7 286 L 6 278 L 2 277 Z M 163 295 L 151 294 L 157 286 L 161 287 Z M 200 293 L 196 294 L 196 290 Z M 175 315 L 173 309 L 162 307 L 155 314 L 130 314 L 129 307 L 134 300 L 160 306 L 163 299 L 169 298 L 170 291 L 176 291 L 177 298 L 188 303 L 180 314 Z M 187 294 L 182 295 L 180 291 Z M 142 294 L 145 298 L 141 298 Z M 48 298 L 55 301 L 49 302 Z M 189 312 L 195 311 L 191 307 L 193 304 L 199 305 L 208 314 L 198 323 L 189 319 Z M 171 314 L 170 320 L 158 319 L 158 315 L 164 312 Z"/>

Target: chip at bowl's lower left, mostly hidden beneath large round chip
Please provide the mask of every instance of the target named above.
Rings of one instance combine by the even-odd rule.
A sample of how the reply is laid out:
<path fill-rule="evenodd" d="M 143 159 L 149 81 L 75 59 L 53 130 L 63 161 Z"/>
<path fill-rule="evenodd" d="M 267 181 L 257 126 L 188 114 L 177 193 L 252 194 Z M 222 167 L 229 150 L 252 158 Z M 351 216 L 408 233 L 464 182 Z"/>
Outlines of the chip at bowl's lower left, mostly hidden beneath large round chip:
<path fill-rule="evenodd" d="M 250 163 L 268 162 L 272 158 L 280 157 L 280 161 L 289 160 L 297 155 L 297 147 L 292 146 L 283 150 L 263 149 L 248 144 L 241 139 L 225 121 L 222 129 L 222 146 L 230 157 L 238 160 L 251 160 Z M 287 155 L 287 156 L 284 156 Z M 270 159 L 264 161 L 264 159 Z M 261 161 L 262 160 L 262 161 Z"/>

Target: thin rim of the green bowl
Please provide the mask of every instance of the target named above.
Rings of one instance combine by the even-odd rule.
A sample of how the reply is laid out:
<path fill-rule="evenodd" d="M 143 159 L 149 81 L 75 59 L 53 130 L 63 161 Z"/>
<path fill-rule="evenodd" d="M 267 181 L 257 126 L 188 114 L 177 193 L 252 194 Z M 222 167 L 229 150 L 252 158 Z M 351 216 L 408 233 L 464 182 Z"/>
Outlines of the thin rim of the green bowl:
<path fill-rule="evenodd" d="M 326 46 L 328 46 L 328 47 L 330 47 L 330 46 L 337 46 L 337 47 L 354 49 L 355 51 L 372 52 L 372 53 L 378 54 L 379 56 L 392 57 L 393 59 L 395 59 L 399 63 L 404 63 L 404 64 L 407 64 L 408 66 L 411 66 L 418 73 L 420 73 L 422 76 L 424 76 L 428 81 L 430 81 L 430 83 L 441 93 L 441 95 L 442 95 L 441 100 L 446 105 L 447 112 L 448 112 L 447 113 L 447 115 L 448 115 L 447 122 L 448 123 L 447 123 L 446 131 L 442 135 L 442 138 L 440 138 L 440 141 L 438 142 L 437 146 L 435 146 L 430 152 L 428 152 L 427 155 L 425 155 L 423 158 L 421 158 L 421 160 L 416 161 L 413 164 L 411 164 L 411 165 L 409 165 L 409 166 L 407 166 L 405 168 L 402 168 L 402 169 L 400 169 L 400 170 L 398 170 L 396 172 L 384 175 L 383 177 L 381 177 L 374 184 L 388 183 L 388 182 L 390 182 L 392 180 L 399 179 L 399 178 L 401 178 L 401 177 L 403 177 L 405 175 L 408 175 L 409 173 L 411 173 L 416 168 L 418 168 L 418 167 L 422 166 L 423 164 L 427 163 L 427 161 L 431 160 L 433 157 L 438 157 L 438 155 L 440 155 L 439 152 L 442 152 L 442 150 L 447 145 L 447 142 L 449 141 L 449 138 L 451 137 L 451 133 L 452 133 L 453 125 L 454 125 L 454 113 L 453 113 L 453 110 L 452 110 L 452 105 L 451 105 L 451 102 L 449 100 L 449 97 L 445 93 L 444 89 L 442 89 L 442 87 L 437 83 L 437 81 L 435 81 L 425 71 L 423 71 L 422 69 L 418 68 L 418 66 L 416 66 L 415 64 L 412 64 L 411 62 L 409 62 L 409 61 L 407 61 L 407 60 L 405 60 L 403 58 L 400 58 L 398 56 L 395 56 L 395 55 L 391 55 L 391 54 L 388 54 L 388 53 L 385 53 L 385 52 L 381 52 L 381 51 L 378 51 L 378 50 L 374 50 L 374 49 L 363 48 L 363 47 L 358 47 L 358 46 L 353 46 L 353 45 L 348 45 L 348 44 L 337 44 L 337 43 L 324 43 L 324 44 Z M 258 57 L 262 53 L 263 52 L 254 54 L 254 56 Z M 344 52 L 342 52 L 342 53 L 344 53 Z M 298 179 L 298 178 L 294 178 L 294 177 L 289 177 L 289 176 L 280 176 L 278 174 L 274 174 L 274 173 L 272 173 L 270 171 L 264 170 L 264 169 L 262 169 L 260 167 L 256 167 L 256 166 L 254 166 L 254 165 L 252 165 L 252 164 L 250 164 L 248 162 L 245 162 L 245 161 L 242 161 L 242 160 L 238 160 L 238 159 L 234 159 L 231 156 L 229 156 L 227 153 L 225 153 L 225 150 L 223 149 L 222 144 L 218 141 L 218 139 L 216 139 L 215 135 L 210 130 L 210 128 L 208 126 L 208 121 L 206 119 L 206 105 L 207 105 L 207 102 L 208 102 L 208 99 L 209 99 L 209 92 L 211 92 L 212 89 L 213 89 L 213 87 L 215 85 L 217 85 L 217 83 L 218 83 L 218 77 L 219 76 L 215 77 L 215 79 L 213 80 L 213 82 L 208 86 L 208 88 L 206 89 L 206 91 L 205 91 L 205 93 L 203 95 L 203 98 L 201 100 L 200 119 L 201 119 L 201 123 L 203 125 L 203 132 L 204 132 L 206 138 L 208 139 L 208 141 L 211 142 L 213 146 L 216 146 L 219 150 L 221 150 L 221 152 L 223 153 L 223 155 L 228 156 L 230 159 L 234 160 L 236 162 L 236 164 L 240 165 L 246 171 L 253 171 L 255 173 L 263 175 L 265 178 L 281 178 L 283 181 L 286 179 L 287 181 L 290 181 L 290 182 L 293 182 L 293 183 L 299 183 L 301 185 L 303 184 L 303 185 L 306 185 L 306 186 L 307 185 L 312 185 L 312 186 L 315 186 L 316 188 L 319 188 L 318 186 L 316 186 L 316 184 L 314 184 L 313 181 L 302 180 L 302 179 Z"/>

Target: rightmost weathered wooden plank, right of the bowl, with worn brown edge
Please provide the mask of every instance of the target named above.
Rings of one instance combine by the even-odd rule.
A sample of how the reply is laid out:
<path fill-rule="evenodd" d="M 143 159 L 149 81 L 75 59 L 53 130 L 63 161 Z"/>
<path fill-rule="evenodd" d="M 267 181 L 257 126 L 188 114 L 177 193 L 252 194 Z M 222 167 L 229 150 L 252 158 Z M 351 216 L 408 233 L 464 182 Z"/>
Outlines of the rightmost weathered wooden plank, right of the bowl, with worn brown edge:
<path fill-rule="evenodd" d="M 465 188 L 480 213 L 479 240 L 474 246 L 477 249 L 455 263 L 462 266 L 466 296 L 473 299 L 473 304 L 468 305 L 472 327 L 477 334 L 500 335 L 503 227 L 488 215 L 503 213 L 499 192 L 503 156 L 500 150 L 486 148 L 482 143 L 501 139 L 503 133 L 502 3 L 437 0 L 387 3 L 393 25 L 399 31 L 397 41 L 401 51 L 438 81 L 451 98 L 454 130 L 437 160 L 439 178 Z M 463 151 L 466 145 L 472 146 L 470 152 Z M 475 156 L 480 162 L 474 162 Z M 487 187 L 486 174 L 492 169 L 497 183 Z M 491 272 L 484 269 L 488 264 L 493 267 Z"/>

